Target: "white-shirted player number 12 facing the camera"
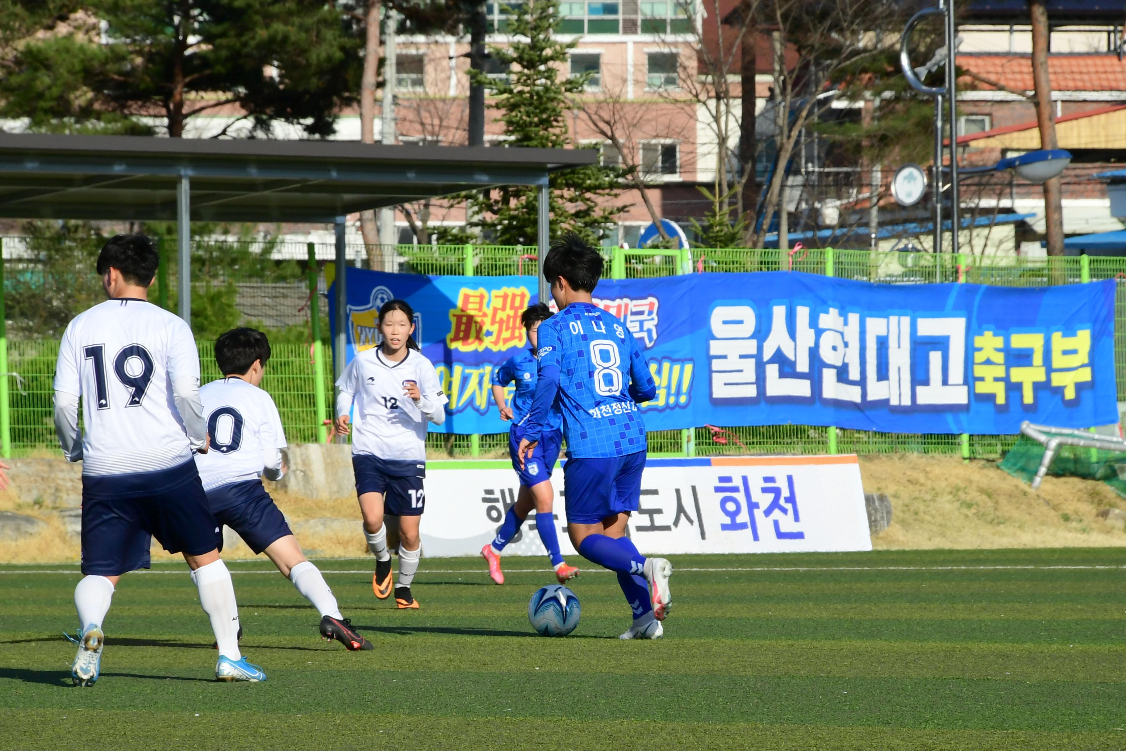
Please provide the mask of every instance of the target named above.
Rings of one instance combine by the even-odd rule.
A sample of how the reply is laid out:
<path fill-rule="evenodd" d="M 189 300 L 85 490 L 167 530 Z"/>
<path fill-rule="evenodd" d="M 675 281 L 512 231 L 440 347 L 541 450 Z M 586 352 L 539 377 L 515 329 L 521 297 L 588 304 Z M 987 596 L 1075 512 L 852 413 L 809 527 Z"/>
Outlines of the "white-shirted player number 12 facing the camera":
<path fill-rule="evenodd" d="M 446 394 L 434 365 L 414 343 L 414 311 L 402 299 L 379 309 L 383 343 L 356 355 L 337 381 L 337 431 L 347 435 L 354 412 L 352 468 L 364 535 L 375 554 L 372 590 L 391 594 L 391 553 L 384 513 L 399 517 L 400 609 L 418 608 L 411 582 L 419 567 L 419 520 L 426 508 L 427 423 L 446 421 Z"/>

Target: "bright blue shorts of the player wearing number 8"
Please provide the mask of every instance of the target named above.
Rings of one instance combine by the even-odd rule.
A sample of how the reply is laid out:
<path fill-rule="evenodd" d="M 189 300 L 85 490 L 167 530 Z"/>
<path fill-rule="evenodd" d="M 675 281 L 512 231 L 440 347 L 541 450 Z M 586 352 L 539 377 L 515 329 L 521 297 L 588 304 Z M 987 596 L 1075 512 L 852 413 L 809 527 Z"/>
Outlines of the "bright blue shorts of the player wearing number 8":
<path fill-rule="evenodd" d="M 563 464 L 568 522 L 593 525 L 623 511 L 636 511 L 644 468 L 645 452 L 568 459 Z"/>

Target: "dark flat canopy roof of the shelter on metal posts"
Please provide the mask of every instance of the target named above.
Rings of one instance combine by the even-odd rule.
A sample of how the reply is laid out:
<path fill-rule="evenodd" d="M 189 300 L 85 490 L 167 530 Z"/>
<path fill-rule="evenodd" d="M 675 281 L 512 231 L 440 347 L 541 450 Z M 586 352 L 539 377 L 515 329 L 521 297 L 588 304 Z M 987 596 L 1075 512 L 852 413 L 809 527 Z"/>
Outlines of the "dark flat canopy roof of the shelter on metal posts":
<path fill-rule="evenodd" d="M 0 217 L 332 222 L 498 185 L 535 186 L 595 150 L 0 134 Z"/>

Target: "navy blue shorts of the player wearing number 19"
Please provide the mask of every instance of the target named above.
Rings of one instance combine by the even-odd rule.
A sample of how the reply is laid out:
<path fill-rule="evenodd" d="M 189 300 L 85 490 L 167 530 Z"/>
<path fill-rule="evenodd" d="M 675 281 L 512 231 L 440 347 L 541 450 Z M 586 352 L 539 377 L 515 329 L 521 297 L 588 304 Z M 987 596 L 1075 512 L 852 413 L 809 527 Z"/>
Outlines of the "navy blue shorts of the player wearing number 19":
<path fill-rule="evenodd" d="M 152 537 L 169 553 L 209 553 L 218 529 L 195 459 L 157 472 L 82 476 L 84 574 L 148 569 Z"/>

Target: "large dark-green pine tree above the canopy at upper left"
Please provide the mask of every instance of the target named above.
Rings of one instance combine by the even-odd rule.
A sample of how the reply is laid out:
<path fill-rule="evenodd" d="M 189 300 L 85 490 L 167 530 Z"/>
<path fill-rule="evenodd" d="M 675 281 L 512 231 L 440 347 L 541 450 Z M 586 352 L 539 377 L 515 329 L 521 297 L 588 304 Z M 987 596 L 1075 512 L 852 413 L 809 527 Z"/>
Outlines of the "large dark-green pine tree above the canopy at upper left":
<path fill-rule="evenodd" d="M 0 116 L 33 131 L 146 132 L 136 118 L 158 116 L 178 137 L 191 116 L 233 105 L 257 133 L 280 119 L 325 136 L 357 90 L 349 17 L 320 0 L 59 5 L 0 68 Z"/>

